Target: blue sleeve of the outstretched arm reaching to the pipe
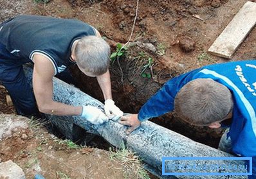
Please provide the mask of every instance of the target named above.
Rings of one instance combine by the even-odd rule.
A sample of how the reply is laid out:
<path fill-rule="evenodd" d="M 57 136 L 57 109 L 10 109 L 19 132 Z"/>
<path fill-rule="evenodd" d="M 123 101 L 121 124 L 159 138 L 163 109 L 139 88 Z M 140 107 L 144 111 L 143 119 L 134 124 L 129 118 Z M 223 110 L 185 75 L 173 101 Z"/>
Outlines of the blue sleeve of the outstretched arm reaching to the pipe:
<path fill-rule="evenodd" d="M 145 121 L 174 110 L 176 94 L 186 83 L 193 80 L 194 74 L 200 70 L 201 69 L 196 69 L 167 81 L 167 83 L 142 106 L 138 114 L 138 119 Z"/>

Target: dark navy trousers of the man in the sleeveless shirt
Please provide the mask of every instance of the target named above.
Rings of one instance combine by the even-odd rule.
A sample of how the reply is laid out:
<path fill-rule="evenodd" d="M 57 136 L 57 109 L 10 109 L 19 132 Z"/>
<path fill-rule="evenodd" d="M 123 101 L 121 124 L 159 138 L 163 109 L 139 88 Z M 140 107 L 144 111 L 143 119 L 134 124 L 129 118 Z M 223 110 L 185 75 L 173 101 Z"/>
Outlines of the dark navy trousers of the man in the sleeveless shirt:
<path fill-rule="evenodd" d="M 0 43 L 0 81 L 8 90 L 17 114 L 39 116 L 32 87 L 23 71 L 23 64 L 27 62 L 31 61 L 12 55 Z M 75 82 L 68 69 L 57 74 L 56 77 L 67 83 Z"/>

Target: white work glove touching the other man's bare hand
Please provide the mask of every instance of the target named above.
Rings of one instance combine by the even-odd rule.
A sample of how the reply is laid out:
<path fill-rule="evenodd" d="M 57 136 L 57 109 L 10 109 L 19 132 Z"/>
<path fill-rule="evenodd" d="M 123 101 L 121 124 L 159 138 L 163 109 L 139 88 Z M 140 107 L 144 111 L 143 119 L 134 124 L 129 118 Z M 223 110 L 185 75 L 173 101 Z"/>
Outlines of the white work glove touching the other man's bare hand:
<path fill-rule="evenodd" d="M 114 121 L 123 116 L 122 110 L 114 105 L 114 101 L 112 99 L 105 100 L 104 110 L 107 117 Z"/>

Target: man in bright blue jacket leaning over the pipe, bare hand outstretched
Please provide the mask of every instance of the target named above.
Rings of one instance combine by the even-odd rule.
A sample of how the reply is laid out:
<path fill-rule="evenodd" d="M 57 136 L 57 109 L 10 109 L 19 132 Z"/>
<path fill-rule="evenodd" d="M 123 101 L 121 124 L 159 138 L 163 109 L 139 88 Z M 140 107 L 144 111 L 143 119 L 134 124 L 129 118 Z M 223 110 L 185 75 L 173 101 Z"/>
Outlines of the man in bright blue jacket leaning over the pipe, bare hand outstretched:
<path fill-rule="evenodd" d="M 176 111 L 190 124 L 219 128 L 228 124 L 231 153 L 253 157 L 256 178 L 256 60 L 201 67 L 167 81 L 140 109 L 119 123 L 131 126 Z"/>

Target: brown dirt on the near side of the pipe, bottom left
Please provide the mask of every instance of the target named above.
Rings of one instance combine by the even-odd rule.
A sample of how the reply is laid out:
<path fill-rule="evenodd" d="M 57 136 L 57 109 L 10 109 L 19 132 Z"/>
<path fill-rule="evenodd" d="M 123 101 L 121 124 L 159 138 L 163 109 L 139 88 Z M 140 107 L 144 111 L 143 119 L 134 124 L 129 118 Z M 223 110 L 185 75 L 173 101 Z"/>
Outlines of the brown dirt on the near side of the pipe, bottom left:
<path fill-rule="evenodd" d="M 21 116 L 0 115 L 1 120 L 31 120 Z M 0 121 L 1 121 L 0 120 Z M 49 134 L 38 123 L 30 123 L 29 128 L 15 128 L 0 142 L 0 162 L 14 161 L 20 166 L 26 178 L 34 178 L 38 173 L 45 178 L 138 178 L 136 169 L 123 161 L 112 160 L 111 153 L 97 148 L 74 148 L 67 142 Z M 130 170 L 128 170 L 130 169 Z M 66 177 L 64 177 L 66 176 Z"/>

